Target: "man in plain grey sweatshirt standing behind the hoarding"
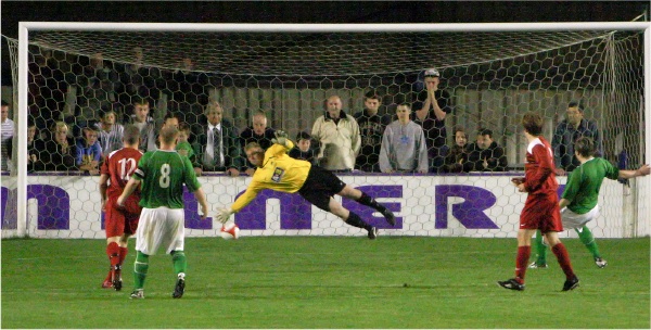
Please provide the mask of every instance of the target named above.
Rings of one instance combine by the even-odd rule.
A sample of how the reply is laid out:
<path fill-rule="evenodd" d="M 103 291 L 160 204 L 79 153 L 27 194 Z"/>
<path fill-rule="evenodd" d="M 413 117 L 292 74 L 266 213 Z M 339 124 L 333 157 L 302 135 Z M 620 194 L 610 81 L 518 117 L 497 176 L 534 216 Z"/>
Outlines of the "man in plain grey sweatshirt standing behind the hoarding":
<path fill-rule="evenodd" d="M 427 173 L 427 144 L 420 125 L 409 116 L 411 107 L 399 104 L 396 107 L 397 120 L 386 126 L 380 150 L 382 173 Z"/>

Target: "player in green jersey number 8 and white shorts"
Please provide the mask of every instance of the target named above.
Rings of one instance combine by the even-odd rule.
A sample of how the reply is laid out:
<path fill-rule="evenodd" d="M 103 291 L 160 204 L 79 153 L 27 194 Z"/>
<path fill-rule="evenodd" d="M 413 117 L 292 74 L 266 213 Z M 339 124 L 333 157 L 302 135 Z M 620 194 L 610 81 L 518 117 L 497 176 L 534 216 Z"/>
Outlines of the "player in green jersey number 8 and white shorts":
<path fill-rule="evenodd" d="M 186 254 L 183 183 L 201 205 L 202 218 L 208 212 L 206 195 L 196 180 L 194 168 L 188 157 L 179 155 L 175 148 L 179 130 L 168 126 L 161 130 L 161 148 L 149 151 L 138 162 L 138 168 L 117 200 L 123 205 L 141 185 L 139 227 L 136 233 L 136 263 L 133 265 L 133 292 L 131 299 L 144 297 L 144 279 L 149 268 L 149 256 L 158 248 L 166 249 L 171 255 L 177 281 L 173 297 L 183 295 L 186 289 Z"/>

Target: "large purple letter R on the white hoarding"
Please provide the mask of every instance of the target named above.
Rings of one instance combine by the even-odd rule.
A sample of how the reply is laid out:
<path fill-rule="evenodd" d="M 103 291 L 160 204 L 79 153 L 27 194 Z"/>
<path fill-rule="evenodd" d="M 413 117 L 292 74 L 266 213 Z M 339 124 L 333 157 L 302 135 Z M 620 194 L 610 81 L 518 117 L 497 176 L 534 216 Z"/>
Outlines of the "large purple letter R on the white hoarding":
<path fill-rule="evenodd" d="M 436 186 L 436 229 L 448 226 L 448 198 L 462 198 L 463 203 L 452 205 L 452 215 L 469 229 L 499 229 L 482 211 L 495 204 L 497 198 L 483 188 L 461 185 Z"/>

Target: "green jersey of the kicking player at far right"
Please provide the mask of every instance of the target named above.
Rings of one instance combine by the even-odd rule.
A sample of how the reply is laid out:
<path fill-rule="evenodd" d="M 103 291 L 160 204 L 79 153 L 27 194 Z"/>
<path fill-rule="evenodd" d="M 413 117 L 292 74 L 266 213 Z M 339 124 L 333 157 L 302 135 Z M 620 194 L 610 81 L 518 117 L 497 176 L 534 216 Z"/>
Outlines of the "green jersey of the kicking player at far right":
<path fill-rule="evenodd" d="M 586 214 L 597 206 L 599 189 L 603 178 L 616 180 L 620 169 L 609 161 L 596 157 L 576 167 L 567 178 L 563 199 L 570 201 L 567 208 L 576 214 Z"/>

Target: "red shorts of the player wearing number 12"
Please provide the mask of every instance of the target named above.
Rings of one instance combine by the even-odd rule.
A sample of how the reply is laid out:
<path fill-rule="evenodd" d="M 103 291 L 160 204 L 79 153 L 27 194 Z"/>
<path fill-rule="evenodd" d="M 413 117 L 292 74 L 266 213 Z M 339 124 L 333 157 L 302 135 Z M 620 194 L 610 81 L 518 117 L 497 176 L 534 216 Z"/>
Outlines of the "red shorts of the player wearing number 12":
<path fill-rule="evenodd" d="M 138 229 L 138 219 L 142 211 L 142 207 L 138 205 L 140 196 L 130 195 L 123 207 L 117 207 L 117 198 L 108 198 L 106 201 L 106 213 L 104 214 L 106 238 L 123 234 L 132 236 Z"/>

